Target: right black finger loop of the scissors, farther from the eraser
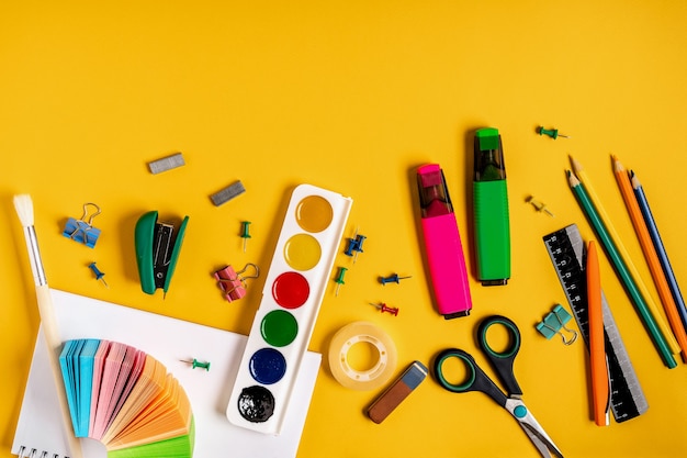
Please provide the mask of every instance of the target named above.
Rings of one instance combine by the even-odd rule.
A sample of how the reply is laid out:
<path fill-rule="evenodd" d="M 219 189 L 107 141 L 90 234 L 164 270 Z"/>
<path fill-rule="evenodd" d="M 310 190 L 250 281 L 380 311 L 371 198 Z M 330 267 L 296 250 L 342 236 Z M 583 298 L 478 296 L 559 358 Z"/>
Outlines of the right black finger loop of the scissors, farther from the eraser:
<path fill-rule="evenodd" d="M 510 337 L 508 346 L 503 351 L 496 351 L 487 342 L 486 333 L 489 327 L 495 324 L 506 327 Z M 480 327 L 477 328 L 477 343 L 498 375 L 498 378 L 506 388 L 506 391 L 510 395 L 521 395 L 522 390 L 513 373 L 513 364 L 515 361 L 515 357 L 520 350 L 520 329 L 518 329 L 518 326 L 505 316 L 488 316 L 480 323 Z"/>

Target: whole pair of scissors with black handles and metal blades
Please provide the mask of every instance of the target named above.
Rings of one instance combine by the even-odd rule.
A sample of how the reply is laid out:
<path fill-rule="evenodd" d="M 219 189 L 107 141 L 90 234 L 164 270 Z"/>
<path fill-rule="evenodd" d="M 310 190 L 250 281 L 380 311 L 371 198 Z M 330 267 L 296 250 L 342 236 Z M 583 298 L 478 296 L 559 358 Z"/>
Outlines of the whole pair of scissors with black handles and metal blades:
<path fill-rule="evenodd" d="M 486 340 L 488 328 L 495 324 L 505 326 L 510 336 L 508 347 L 500 353 L 494 350 Z M 534 447 L 537 447 L 542 457 L 554 456 L 563 458 L 561 450 L 553 444 L 553 440 L 551 440 L 549 435 L 520 400 L 522 390 L 513 373 L 513 362 L 520 349 L 520 331 L 518 326 L 505 316 L 488 316 L 480 323 L 480 327 L 477 328 L 477 344 L 498 375 L 498 379 L 506 387 L 508 395 L 504 394 L 494 381 L 484 373 L 470 354 L 458 348 L 447 348 L 435 358 L 433 369 L 439 384 L 453 393 L 482 391 L 488 394 L 498 405 L 506 409 L 518 421 L 518 424 L 522 427 L 525 434 L 527 434 L 532 444 L 534 444 Z M 461 384 L 450 382 L 443 375 L 443 364 L 450 358 L 459 358 L 465 364 L 468 377 Z"/>

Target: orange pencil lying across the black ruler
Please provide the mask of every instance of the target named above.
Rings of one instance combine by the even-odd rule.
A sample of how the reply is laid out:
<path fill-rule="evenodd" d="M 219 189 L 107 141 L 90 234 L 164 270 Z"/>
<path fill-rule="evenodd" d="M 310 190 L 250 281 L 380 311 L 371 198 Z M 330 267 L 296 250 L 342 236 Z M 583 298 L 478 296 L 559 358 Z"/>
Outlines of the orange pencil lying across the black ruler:
<path fill-rule="evenodd" d="M 601 275 L 596 244 L 589 241 L 587 248 L 587 311 L 589 312 L 589 361 L 592 367 L 592 401 L 594 422 L 597 426 L 608 426 L 610 388 L 606 345 L 604 340 L 604 312 L 601 310 Z"/>

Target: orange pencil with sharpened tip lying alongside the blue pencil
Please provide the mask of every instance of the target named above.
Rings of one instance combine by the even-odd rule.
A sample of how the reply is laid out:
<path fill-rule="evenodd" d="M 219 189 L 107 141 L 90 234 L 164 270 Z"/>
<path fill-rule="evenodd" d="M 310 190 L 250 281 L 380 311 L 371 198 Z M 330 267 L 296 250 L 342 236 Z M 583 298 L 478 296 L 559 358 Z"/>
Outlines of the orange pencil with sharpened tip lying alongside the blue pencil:
<path fill-rule="evenodd" d="M 683 361 L 687 362 L 687 332 L 685 332 L 685 327 L 683 326 L 683 322 L 677 311 L 677 305 L 675 304 L 675 300 L 671 293 L 668 281 L 666 280 L 663 268 L 661 267 L 656 248 L 651 241 L 649 227 L 646 227 L 646 222 L 642 216 L 642 211 L 637 202 L 632 185 L 630 183 L 630 178 L 628 177 L 624 167 L 622 167 L 622 164 L 620 164 L 620 160 L 618 160 L 616 156 L 612 156 L 612 160 L 616 180 L 618 181 L 622 199 L 628 208 L 628 213 L 630 213 L 630 219 L 632 220 L 632 225 L 634 226 L 634 232 L 637 233 L 637 238 L 639 238 L 640 245 L 642 246 L 644 258 L 649 265 L 649 270 L 651 270 L 651 276 L 654 279 L 661 302 L 663 302 L 663 309 L 668 317 L 668 323 L 671 323 L 675 338 L 682 348 Z"/>

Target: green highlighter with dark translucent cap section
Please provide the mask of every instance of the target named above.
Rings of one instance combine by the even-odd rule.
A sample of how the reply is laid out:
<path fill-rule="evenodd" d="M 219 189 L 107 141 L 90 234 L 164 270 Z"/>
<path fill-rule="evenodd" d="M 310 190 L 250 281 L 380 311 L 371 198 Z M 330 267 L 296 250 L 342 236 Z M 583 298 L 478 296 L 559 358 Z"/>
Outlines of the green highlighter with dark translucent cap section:
<path fill-rule="evenodd" d="M 504 149 L 497 129 L 475 132 L 473 211 L 477 280 L 485 287 L 510 278 L 510 222 Z"/>

